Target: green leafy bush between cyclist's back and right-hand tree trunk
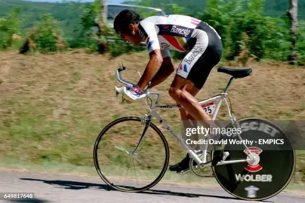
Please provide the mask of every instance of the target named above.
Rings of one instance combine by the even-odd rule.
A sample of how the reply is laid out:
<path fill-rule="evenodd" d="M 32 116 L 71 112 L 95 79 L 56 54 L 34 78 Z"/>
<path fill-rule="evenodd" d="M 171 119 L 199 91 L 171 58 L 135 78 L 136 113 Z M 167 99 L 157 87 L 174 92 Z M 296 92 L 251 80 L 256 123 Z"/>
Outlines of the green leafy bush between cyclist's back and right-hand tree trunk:
<path fill-rule="evenodd" d="M 244 7 L 247 9 L 244 9 Z M 290 21 L 263 15 L 264 0 L 208 0 L 208 8 L 197 15 L 220 33 L 227 59 L 246 62 L 259 58 L 286 61 L 290 53 Z"/>

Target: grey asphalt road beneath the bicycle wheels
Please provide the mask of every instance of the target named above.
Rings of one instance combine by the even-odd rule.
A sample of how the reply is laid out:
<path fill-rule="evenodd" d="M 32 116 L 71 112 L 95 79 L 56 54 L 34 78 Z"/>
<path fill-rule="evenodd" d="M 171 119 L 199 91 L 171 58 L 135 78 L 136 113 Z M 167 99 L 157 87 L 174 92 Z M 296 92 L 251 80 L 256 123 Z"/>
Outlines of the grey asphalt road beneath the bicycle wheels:
<path fill-rule="evenodd" d="M 32 192 L 33 201 L 17 203 L 243 203 L 222 189 L 190 185 L 158 184 L 142 193 L 115 191 L 98 177 L 77 178 L 59 175 L 41 175 L 0 172 L 0 193 Z M 8 201 L 1 201 L 6 203 Z M 305 203 L 305 197 L 280 193 L 264 202 Z"/>

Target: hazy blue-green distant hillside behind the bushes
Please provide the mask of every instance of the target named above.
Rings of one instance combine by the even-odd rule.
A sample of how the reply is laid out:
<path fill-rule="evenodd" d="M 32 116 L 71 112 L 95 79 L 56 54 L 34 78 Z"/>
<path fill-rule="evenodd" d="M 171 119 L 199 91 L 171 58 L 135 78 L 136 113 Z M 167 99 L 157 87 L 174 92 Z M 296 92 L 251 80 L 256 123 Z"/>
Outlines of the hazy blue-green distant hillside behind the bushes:
<path fill-rule="evenodd" d="M 169 3 L 177 3 L 186 8 L 186 12 L 202 12 L 206 5 L 206 0 L 142 0 L 146 5 L 163 7 Z M 126 1 L 127 2 L 127 1 Z M 137 4 L 138 1 L 129 1 Z M 288 0 L 266 0 L 265 12 L 270 16 L 279 16 L 286 12 Z M 72 5 L 73 4 L 73 5 Z M 5 16 L 13 7 L 21 7 L 20 19 L 23 33 L 33 23 L 40 20 L 42 13 L 51 13 L 59 21 L 63 30 L 64 38 L 73 37 L 73 31 L 79 29 L 79 19 L 81 6 L 83 3 L 50 3 L 50 2 L 31 2 L 23 0 L 0 0 L 0 17 Z M 166 10 L 167 13 L 172 11 Z M 299 0 L 299 17 L 305 18 L 305 0 Z"/>

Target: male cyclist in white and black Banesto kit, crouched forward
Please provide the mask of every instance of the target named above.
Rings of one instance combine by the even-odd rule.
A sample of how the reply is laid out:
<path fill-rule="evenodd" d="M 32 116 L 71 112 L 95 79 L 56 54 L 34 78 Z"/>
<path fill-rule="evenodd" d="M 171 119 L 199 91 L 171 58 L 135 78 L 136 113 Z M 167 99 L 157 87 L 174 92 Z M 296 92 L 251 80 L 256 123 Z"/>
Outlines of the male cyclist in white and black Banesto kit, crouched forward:
<path fill-rule="evenodd" d="M 141 98 L 142 91 L 150 82 L 152 88 L 174 72 L 169 49 L 188 52 L 178 66 L 168 93 L 177 104 L 183 106 L 183 109 L 179 109 L 182 121 L 204 121 L 211 127 L 217 127 L 194 97 L 222 56 L 221 37 L 213 27 L 185 15 L 142 19 L 137 12 L 126 9 L 116 16 L 114 29 L 124 41 L 133 45 L 146 42 L 150 55 L 143 76 L 133 88 L 125 92 L 125 99 L 134 101 Z M 170 166 L 169 170 L 187 170 L 189 160 L 187 154 L 180 163 Z"/>

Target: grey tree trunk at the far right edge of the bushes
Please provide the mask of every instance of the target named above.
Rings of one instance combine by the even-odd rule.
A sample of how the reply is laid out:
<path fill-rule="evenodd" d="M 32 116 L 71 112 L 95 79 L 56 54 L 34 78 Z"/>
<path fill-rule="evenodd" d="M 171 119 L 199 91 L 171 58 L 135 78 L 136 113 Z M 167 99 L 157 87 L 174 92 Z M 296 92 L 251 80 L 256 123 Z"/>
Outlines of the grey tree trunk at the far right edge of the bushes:
<path fill-rule="evenodd" d="M 291 21 L 291 53 L 288 57 L 288 60 L 291 61 L 291 64 L 295 64 L 297 59 L 297 34 L 298 34 L 298 0 L 290 0 L 290 7 L 287 12 L 287 15 Z"/>

